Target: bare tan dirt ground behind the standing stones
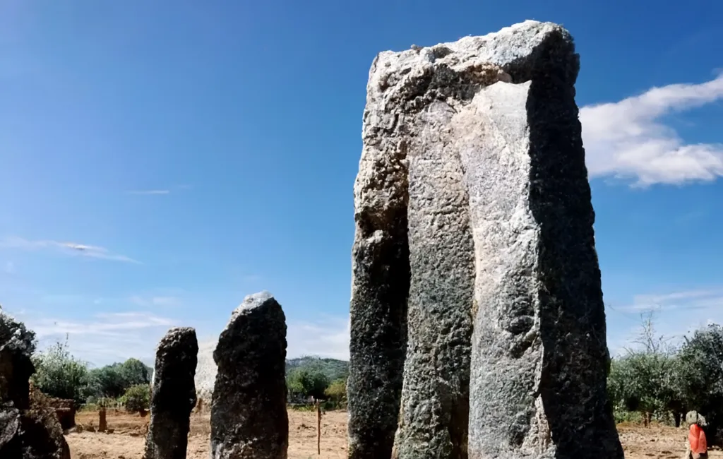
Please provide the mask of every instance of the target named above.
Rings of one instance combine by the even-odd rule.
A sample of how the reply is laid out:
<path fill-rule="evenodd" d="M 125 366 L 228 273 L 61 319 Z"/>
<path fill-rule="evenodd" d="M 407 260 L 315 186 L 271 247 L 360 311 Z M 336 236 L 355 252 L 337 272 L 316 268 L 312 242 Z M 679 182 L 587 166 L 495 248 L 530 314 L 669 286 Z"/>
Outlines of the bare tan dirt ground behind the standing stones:
<path fill-rule="evenodd" d="M 192 414 L 188 459 L 208 459 L 208 413 Z M 316 450 L 316 413 L 288 412 L 288 458 L 346 458 L 345 411 L 330 411 L 322 417 L 321 455 Z M 141 459 L 145 445 L 148 416 L 130 415 L 109 410 L 108 429 L 112 433 L 91 432 L 98 426 L 97 412 L 82 412 L 76 416 L 83 431 L 67 434 L 72 459 Z M 627 459 L 680 459 L 685 452 L 685 429 L 667 426 L 618 426 L 620 440 Z M 723 452 L 712 450 L 710 459 L 723 459 Z"/>

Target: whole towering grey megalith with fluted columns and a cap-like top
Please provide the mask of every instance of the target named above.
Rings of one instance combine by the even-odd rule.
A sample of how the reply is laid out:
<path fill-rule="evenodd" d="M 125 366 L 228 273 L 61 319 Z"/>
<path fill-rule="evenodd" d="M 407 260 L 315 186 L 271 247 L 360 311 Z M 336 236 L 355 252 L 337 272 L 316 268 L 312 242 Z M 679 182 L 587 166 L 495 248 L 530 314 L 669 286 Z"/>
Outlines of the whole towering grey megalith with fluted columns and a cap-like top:
<path fill-rule="evenodd" d="M 397 458 L 623 458 L 578 69 L 567 31 L 534 21 L 372 64 L 350 458 L 392 453 L 403 351 Z"/>

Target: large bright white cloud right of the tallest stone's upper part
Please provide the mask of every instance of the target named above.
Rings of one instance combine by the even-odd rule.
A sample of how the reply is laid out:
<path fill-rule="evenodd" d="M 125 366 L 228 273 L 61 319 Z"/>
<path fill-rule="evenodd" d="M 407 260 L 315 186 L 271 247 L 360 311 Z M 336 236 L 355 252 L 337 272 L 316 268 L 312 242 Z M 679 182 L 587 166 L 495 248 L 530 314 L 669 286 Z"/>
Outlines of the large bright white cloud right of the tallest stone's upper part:
<path fill-rule="evenodd" d="M 649 186 L 713 181 L 723 176 L 723 144 L 685 144 L 660 120 L 668 113 L 722 98 L 720 74 L 701 84 L 654 87 L 619 102 L 581 108 L 591 178 L 615 176 L 633 179 L 635 186 Z"/>

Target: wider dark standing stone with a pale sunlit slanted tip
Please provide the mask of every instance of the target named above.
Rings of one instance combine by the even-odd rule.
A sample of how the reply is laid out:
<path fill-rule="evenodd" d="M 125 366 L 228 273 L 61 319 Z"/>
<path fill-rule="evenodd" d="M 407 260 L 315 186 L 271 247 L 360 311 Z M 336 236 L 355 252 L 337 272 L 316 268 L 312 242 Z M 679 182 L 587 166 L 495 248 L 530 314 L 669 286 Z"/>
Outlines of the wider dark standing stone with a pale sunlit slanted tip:
<path fill-rule="evenodd" d="M 231 314 L 213 352 L 212 459 L 286 459 L 286 317 L 268 292 Z"/>

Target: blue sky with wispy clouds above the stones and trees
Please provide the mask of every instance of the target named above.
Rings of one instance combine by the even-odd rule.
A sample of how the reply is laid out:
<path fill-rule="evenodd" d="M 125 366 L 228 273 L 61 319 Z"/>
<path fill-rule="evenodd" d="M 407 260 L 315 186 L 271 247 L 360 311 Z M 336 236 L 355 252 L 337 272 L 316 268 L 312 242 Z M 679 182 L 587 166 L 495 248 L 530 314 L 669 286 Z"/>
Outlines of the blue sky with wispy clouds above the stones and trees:
<path fill-rule="evenodd" d="M 4 0 L 0 303 L 100 365 L 152 359 L 172 325 L 213 338 L 267 289 L 290 356 L 348 356 L 372 59 L 535 19 L 581 53 L 609 346 L 645 309 L 668 335 L 723 322 L 720 17 L 716 0 Z"/>

